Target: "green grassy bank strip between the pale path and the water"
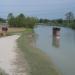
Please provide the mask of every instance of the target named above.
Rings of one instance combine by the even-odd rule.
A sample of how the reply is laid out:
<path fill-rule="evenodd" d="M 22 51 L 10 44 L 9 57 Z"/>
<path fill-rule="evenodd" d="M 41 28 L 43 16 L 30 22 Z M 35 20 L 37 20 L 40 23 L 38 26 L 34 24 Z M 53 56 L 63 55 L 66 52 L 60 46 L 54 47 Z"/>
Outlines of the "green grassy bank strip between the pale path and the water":
<path fill-rule="evenodd" d="M 32 29 L 26 29 L 18 39 L 18 47 L 24 53 L 29 65 L 30 75 L 60 75 L 48 56 L 41 50 L 33 47 Z"/>

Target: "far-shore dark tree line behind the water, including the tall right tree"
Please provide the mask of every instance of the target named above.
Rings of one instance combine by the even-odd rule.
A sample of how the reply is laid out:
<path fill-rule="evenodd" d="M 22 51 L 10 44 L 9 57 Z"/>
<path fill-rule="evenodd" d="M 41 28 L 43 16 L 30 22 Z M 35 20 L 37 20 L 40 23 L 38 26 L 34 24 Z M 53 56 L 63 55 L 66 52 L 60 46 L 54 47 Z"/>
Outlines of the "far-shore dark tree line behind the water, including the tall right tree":
<path fill-rule="evenodd" d="M 64 15 L 64 19 L 39 19 L 40 23 L 46 23 L 48 25 L 52 26 L 64 26 L 64 27 L 70 27 L 75 29 L 75 15 L 73 12 L 67 12 Z"/>

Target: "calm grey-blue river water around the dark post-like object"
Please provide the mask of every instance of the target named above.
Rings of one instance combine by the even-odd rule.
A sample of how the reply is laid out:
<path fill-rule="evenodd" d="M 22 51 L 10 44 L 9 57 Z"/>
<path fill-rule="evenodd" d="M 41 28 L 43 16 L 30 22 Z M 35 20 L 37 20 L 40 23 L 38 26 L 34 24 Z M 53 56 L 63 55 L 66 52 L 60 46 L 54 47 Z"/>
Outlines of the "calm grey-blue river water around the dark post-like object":
<path fill-rule="evenodd" d="M 60 38 L 55 39 L 52 33 L 53 26 L 36 27 L 36 47 L 52 58 L 63 75 L 75 75 L 75 31 L 60 28 Z"/>

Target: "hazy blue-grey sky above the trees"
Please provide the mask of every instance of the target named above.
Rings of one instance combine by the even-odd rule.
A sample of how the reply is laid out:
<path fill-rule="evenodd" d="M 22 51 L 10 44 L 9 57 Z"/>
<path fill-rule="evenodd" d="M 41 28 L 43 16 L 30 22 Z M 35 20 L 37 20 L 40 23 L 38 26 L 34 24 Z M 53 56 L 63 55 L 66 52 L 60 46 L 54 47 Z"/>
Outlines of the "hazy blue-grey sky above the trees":
<path fill-rule="evenodd" d="M 75 0 L 0 0 L 0 17 L 7 18 L 23 13 L 38 18 L 64 18 L 65 13 L 75 13 Z"/>

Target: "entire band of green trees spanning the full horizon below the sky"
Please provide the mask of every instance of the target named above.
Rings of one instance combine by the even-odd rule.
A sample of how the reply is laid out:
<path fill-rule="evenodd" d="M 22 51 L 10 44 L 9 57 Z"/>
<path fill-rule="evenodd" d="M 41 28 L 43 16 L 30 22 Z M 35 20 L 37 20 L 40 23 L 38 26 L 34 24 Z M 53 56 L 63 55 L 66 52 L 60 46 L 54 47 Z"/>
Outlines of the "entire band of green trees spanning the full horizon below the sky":
<path fill-rule="evenodd" d="M 12 13 L 8 14 L 7 20 L 0 18 L 0 23 L 8 22 L 10 27 L 26 27 L 33 28 L 37 23 L 44 23 L 46 25 L 65 26 L 75 29 L 75 15 L 73 12 L 67 12 L 65 18 L 62 19 L 38 19 L 37 17 L 29 17 L 24 14 L 14 16 Z M 43 24 L 42 24 L 43 25 Z"/>

